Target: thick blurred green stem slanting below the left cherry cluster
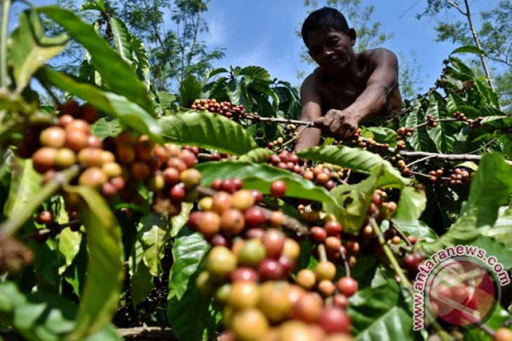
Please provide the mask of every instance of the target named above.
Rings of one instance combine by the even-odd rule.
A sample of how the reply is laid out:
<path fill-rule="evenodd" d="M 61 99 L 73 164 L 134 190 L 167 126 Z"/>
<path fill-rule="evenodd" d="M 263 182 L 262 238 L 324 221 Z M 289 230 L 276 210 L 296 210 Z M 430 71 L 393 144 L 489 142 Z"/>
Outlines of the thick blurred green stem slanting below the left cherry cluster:
<path fill-rule="evenodd" d="M 43 186 L 43 188 L 41 188 L 41 190 L 39 190 L 39 192 L 29 200 L 29 202 L 27 202 L 19 214 L 16 214 L 0 225 L 0 235 L 13 235 L 27 220 L 29 220 L 32 213 L 44 200 L 57 192 L 60 186 L 72 181 L 72 179 L 79 174 L 79 171 L 79 166 L 75 165 L 55 174 L 53 179 L 48 181 L 48 183 L 46 183 L 46 185 Z"/>

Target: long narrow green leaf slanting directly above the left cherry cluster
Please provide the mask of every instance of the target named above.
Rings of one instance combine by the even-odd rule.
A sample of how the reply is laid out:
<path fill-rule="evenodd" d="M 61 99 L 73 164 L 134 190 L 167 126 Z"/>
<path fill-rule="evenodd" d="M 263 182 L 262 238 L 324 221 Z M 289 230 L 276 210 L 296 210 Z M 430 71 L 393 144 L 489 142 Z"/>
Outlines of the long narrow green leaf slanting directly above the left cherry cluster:
<path fill-rule="evenodd" d="M 97 109 L 119 118 L 121 124 L 131 127 L 141 134 L 149 134 L 156 141 L 159 141 L 159 135 L 161 134 L 159 123 L 144 109 L 136 103 L 130 102 L 126 97 L 116 95 L 113 92 L 105 92 L 88 83 L 79 83 L 71 76 L 53 71 L 48 67 L 41 69 L 39 76 L 44 81 L 53 83 L 58 88 L 86 100 L 96 106 Z"/>

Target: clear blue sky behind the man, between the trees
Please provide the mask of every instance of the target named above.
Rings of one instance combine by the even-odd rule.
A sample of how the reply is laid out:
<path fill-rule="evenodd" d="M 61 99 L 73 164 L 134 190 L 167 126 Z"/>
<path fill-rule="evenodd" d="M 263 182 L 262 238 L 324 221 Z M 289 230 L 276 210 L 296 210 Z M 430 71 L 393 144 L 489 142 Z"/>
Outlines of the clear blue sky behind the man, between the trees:
<path fill-rule="evenodd" d="M 36 6 L 51 2 L 33 1 Z M 82 1 L 76 2 L 81 4 Z M 318 2 L 323 4 L 323 1 Z M 473 13 L 482 8 L 492 8 L 497 3 L 498 0 L 470 1 Z M 383 32 L 393 33 L 393 39 L 383 46 L 397 55 L 399 52 L 410 55 L 414 51 L 421 67 L 422 88 L 432 86 L 440 75 L 443 59 L 457 46 L 434 41 L 434 22 L 429 18 L 415 18 L 415 14 L 426 5 L 426 0 L 366 0 L 363 4 L 375 6 L 372 19 L 382 23 Z M 21 4 L 15 6 L 19 8 Z M 258 65 L 267 69 L 272 77 L 300 85 L 302 80 L 297 78 L 297 71 L 314 69 L 300 62 L 303 42 L 295 34 L 306 15 L 302 0 L 211 0 L 209 11 L 204 15 L 210 32 L 202 34 L 201 39 L 211 48 L 225 48 L 224 59 L 215 62 L 215 67 Z M 454 10 L 441 15 L 463 18 Z M 11 19 L 16 21 L 13 16 Z M 347 20 L 351 25 L 351 18 Z M 477 15 L 475 20 L 478 23 Z M 357 27 L 354 28 L 357 31 Z"/>

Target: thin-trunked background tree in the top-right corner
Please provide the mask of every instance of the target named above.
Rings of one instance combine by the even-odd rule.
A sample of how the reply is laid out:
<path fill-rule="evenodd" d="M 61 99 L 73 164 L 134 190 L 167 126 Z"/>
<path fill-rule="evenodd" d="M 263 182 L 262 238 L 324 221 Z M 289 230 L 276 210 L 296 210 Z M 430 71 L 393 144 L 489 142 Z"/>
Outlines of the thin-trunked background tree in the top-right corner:
<path fill-rule="evenodd" d="M 417 14 L 417 18 L 427 16 L 436 20 L 437 41 L 473 45 L 485 51 L 485 56 L 475 60 L 479 60 L 480 70 L 490 78 L 491 84 L 494 83 L 505 111 L 511 113 L 512 85 L 506 81 L 511 78 L 512 71 L 511 1 L 501 0 L 490 11 L 473 11 L 467 0 L 427 0 L 426 8 Z M 454 16 L 455 12 L 459 15 Z"/>

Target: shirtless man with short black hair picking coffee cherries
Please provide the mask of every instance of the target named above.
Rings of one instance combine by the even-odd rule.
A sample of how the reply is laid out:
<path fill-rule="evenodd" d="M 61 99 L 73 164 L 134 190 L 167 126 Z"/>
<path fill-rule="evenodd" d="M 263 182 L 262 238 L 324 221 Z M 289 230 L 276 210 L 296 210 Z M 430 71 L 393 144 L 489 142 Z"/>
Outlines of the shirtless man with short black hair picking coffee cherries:
<path fill-rule="evenodd" d="M 327 7 L 314 11 L 302 25 L 302 39 L 318 67 L 300 89 L 301 120 L 320 129 L 306 128 L 295 150 L 317 146 L 322 132 L 351 139 L 360 123 L 400 107 L 396 55 L 385 48 L 354 53 L 356 31 L 342 13 Z"/>

